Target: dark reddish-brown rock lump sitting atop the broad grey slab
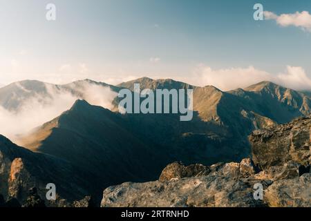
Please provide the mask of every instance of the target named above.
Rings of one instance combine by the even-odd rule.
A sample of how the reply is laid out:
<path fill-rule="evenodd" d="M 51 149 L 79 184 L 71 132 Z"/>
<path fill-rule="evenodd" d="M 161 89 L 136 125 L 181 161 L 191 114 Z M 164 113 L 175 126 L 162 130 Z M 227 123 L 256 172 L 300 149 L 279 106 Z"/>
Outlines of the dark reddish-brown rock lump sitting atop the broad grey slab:
<path fill-rule="evenodd" d="M 211 170 L 208 166 L 202 164 L 191 164 L 184 166 L 180 162 L 173 162 L 165 167 L 162 171 L 159 180 L 169 181 L 174 179 L 180 179 L 184 177 L 198 177 L 209 174 Z"/>

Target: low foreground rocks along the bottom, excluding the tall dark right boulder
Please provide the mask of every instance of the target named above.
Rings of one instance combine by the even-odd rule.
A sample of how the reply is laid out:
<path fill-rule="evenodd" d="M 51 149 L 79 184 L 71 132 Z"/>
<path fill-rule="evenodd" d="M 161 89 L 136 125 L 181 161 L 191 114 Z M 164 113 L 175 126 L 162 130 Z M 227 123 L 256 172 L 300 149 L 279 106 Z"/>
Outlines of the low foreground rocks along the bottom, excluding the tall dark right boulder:
<path fill-rule="evenodd" d="M 259 173 L 250 159 L 208 168 L 208 175 L 181 177 L 180 164 L 170 164 L 161 181 L 105 189 L 101 206 L 311 206 L 311 174 L 299 177 L 296 162 Z M 255 184 L 263 186 L 263 200 L 254 198 Z"/>

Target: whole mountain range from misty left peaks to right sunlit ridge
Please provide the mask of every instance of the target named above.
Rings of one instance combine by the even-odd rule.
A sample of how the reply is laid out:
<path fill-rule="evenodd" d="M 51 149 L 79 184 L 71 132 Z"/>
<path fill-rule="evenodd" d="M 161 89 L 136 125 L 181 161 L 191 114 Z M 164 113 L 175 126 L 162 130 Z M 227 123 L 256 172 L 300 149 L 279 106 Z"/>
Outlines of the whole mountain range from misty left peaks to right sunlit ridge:
<path fill-rule="evenodd" d="M 117 113 L 117 92 L 122 88 L 133 91 L 134 83 L 139 83 L 141 89 L 193 89 L 194 118 L 180 122 L 176 114 Z M 110 110 L 101 106 L 106 104 L 99 93 L 102 91 L 105 95 L 109 93 Z M 240 162 L 251 155 L 247 136 L 252 131 L 272 128 L 311 113 L 308 93 L 269 81 L 222 91 L 214 86 L 198 87 L 147 77 L 117 86 L 89 79 L 65 85 L 20 81 L 0 88 L 0 105 L 18 113 L 33 99 L 36 104 L 53 105 L 55 97 L 59 99 L 64 94 L 73 96 L 75 102 L 54 119 L 28 128 L 30 133 L 20 134 L 14 141 L 23 148 L 1 138 L 2 195 L 23 201 L 30 186 L 39 186 L 39 193 L 44 195 L 44 184 L 55 180 L 62 186 L 59 198 L 73 202 L 84 195 L 98 195 L 107 186 L 122 182 L 157 180 L 162 169 L 174 161 L 206 165 Z M 15 194 L 18 191 L 8 191 L 12 185 L 8 176 L 16 171 L 12 169 L 15 160 L 17 165 L 27 165 L 27 177 L 36 177 L 39 183 L 23 181 L 27 184 L 19 187 L 23 193 L 19 197 Z M 57 174 L 62 174 L 58 180 L 54 177 Z M 66 176 L 72 176 L 73 180 L 63 184 L 62 177 Z M 68 189 L 79 191 L 68 193 Z"/>

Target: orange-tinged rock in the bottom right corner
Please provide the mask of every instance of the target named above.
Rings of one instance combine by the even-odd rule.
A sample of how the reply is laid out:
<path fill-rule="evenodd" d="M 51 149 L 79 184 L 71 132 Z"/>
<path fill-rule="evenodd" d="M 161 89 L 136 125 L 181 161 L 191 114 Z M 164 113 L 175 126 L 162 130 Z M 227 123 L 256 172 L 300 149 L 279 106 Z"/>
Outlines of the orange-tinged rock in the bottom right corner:
<path fill-rule="evenodd" d="M 311 173 L 291 180 L 278 180 L 265 191 L 264 198 L 269 206 L 310 207 Z"/>

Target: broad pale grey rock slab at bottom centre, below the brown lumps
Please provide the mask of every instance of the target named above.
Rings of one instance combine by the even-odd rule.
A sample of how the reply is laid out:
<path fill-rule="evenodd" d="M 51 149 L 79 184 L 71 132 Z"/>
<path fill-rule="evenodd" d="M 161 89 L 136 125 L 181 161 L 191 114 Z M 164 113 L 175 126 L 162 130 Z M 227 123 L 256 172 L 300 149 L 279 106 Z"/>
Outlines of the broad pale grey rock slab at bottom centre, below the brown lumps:
<path fill-rule="evenodd" d="M 101 206 L 264 206 L 252 184 L 207 175 L 171 182 L 126 182 L 104 190 Z"/>

